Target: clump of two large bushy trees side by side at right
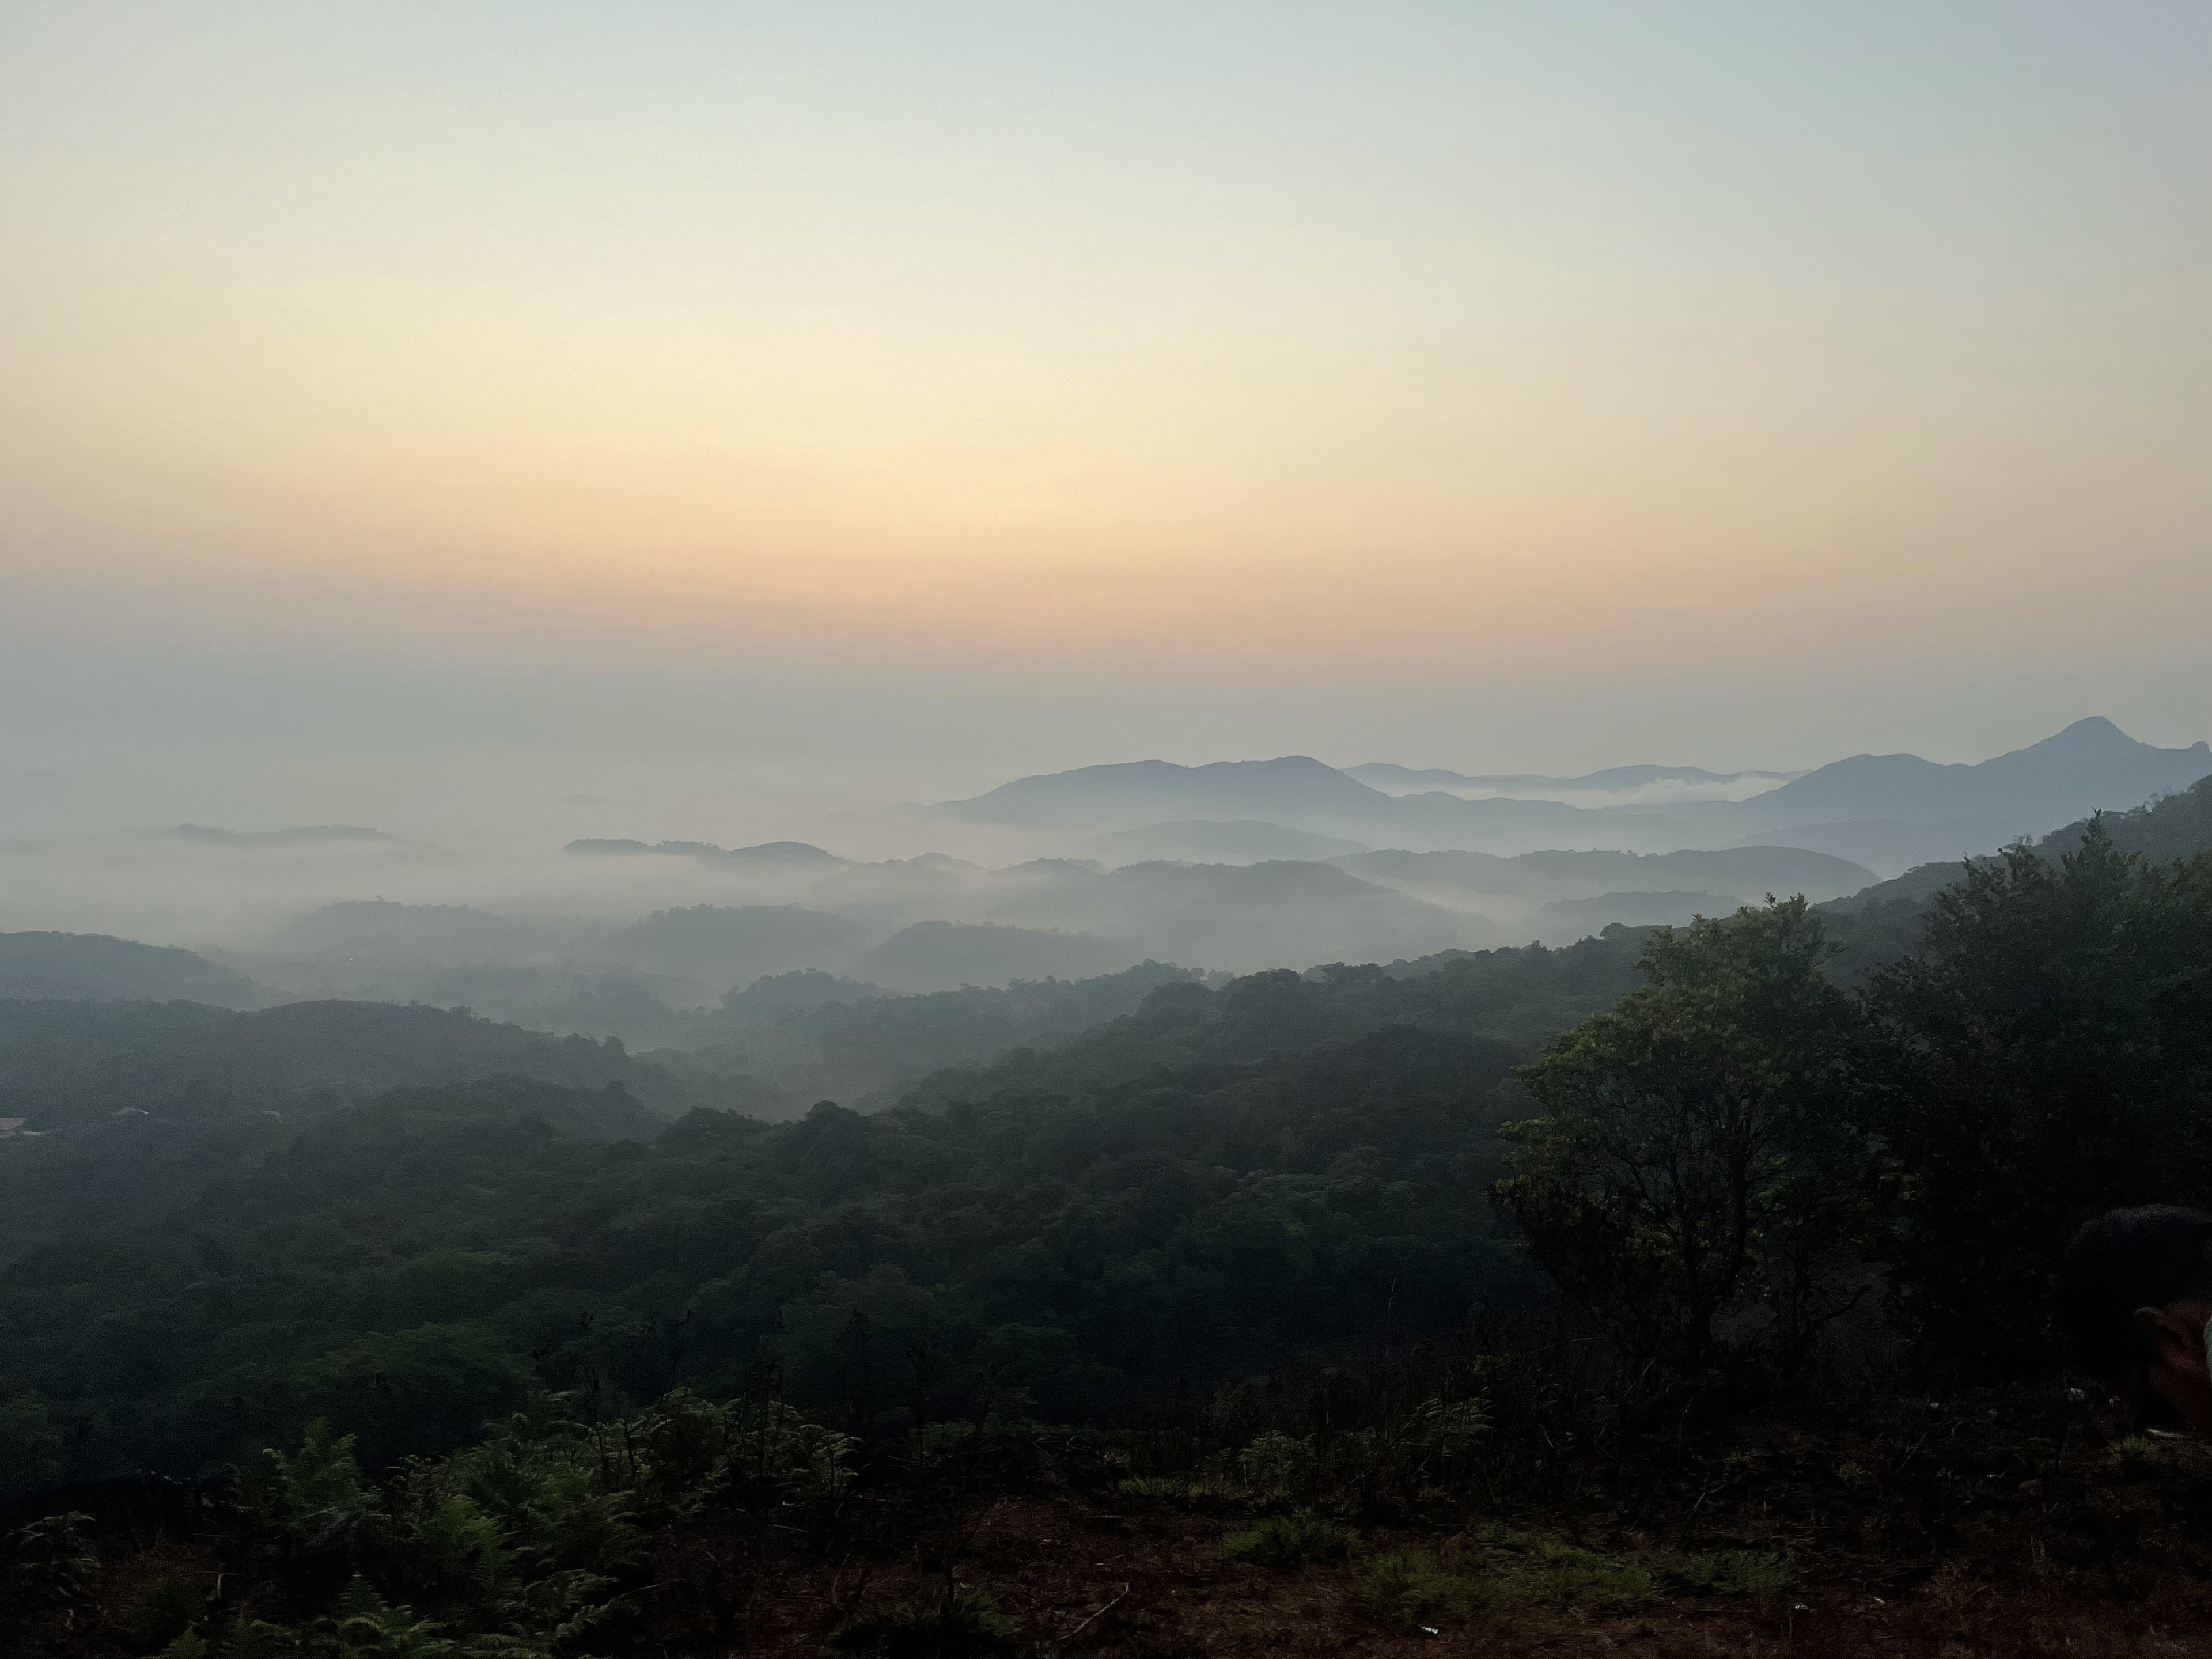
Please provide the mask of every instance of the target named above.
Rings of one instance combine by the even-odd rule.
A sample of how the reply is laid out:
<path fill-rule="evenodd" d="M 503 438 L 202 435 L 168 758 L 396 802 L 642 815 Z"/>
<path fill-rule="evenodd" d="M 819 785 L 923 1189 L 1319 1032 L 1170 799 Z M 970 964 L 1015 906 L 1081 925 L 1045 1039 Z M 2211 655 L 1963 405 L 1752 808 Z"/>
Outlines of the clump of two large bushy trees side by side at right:
<path fill-rule="evenodd" d="M 1652 936 L 1650 984 L 1522 1073 L 1498 1186 L 1531 1254 L 1635 1352 L 1783 1369 L 1887 1270 L 1922 1363 L 2051 1352 L 2073 1230 L 2212 1199 L 2212 854 L 2090 823 L 1975 860 L 1865 991 L 1801 900 Z"/>

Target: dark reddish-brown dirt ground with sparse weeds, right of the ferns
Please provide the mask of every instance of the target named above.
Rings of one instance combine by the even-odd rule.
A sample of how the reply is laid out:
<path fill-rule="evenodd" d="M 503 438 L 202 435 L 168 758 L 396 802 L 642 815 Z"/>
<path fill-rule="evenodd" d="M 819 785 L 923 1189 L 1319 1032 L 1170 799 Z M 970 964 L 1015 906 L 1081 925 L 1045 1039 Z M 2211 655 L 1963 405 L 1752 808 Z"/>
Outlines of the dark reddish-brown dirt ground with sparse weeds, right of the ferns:
<path fill-rule="evenodd" d="M 942 1597 L 949 1562 L 1015 1624 L 1006 1650 L 1035 1655 L 2212 1657 L 2212 1449 L 2124 1436 L 2110 1402 L 2059 1385 L 1593 1462 L 1577 1502 L 1506 1517 L 1513 1551 L 1462 1557 L 1478 1588 L 1500 1568 L 1502 1595 L 1433 1615 L 1378 1608 L 1378 1557 L 1453 1559 L 1500 1522 L 1345 1517 L 1338 1548 L 1276 1568 L 1223 1557 L 1252 1515 L 1044 1486 L 980 1493 L 902 1557 L 796 1575 L 752 1650 L 821 1652 L 863 1608 Z M 1575 1571 L 1531 1566 L 1553 1548 Z M 1721 1593 L 1668 1566 L 1714 1551 L 1772 1571 Z M 1644 1590 L 1588 1562 L 1644 1568 Z M 1590 1571 L 1595 1604 L 1577 1579 Z"/>

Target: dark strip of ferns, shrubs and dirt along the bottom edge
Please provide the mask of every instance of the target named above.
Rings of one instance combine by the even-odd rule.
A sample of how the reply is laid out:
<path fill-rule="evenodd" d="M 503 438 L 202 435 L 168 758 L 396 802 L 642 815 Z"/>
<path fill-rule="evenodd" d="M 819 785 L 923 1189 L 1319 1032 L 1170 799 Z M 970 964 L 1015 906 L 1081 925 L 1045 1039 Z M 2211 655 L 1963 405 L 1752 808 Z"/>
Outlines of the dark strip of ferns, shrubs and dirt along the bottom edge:
<path fill-rule="evenodd" d="M 2212 1462 L 2062 1383 L 1745 1411 L 1482 1332 L 1121 1429 L 922 1396 L 593 1420 L 531 1396 L 365 1471 L 321 1427 L 234 1482 L 75 1486 L 7 1537 L 35 1655 L 2190 1655 Z M 945 1416 L 938 1416 L 945 1411 Z M 22 1520 L 22 1515 L 18 1515 Z"/>

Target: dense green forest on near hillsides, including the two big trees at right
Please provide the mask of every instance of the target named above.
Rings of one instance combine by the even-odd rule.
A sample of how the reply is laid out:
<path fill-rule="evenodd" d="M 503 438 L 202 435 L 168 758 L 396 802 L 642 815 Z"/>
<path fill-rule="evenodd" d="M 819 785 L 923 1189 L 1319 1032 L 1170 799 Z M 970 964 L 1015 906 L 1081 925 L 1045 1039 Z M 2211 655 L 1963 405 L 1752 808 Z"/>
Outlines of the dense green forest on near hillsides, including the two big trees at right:
<path fill-rule="evenodd" d="M 1969 865 L 1860 975 L 1785 900 L 1221 984 L 770 982 L 734 1029 L 863 1044 L 911 1009 L 885 1035 L 909 1062 L 947 1011 L 973 1042 L 1141 989 L 887 1110 L 781 1124 L 619 1044 L 422 1009 L 15 1004 L 0 1040 L 53 1133 L 0 1148 L 24 1214 L 49 1206 L 0 1272 L 0 1442 L 192 1469 L 332 1418 L 387 1462 L 533 1387 L 613 1411 L 763 1376 L 860 1431 L 978 1389 L 1079 1420 L 1535 1305 L 1531 1254 L 1661 1374 L 1785 1376 L 1871 1312 L 1874 1267 L 1922 1356 L 1986 1374 L 2039 1352 L 2081 1214 L 2205 1186 L 2208 896 L 2212 860 L 2090 825 Z M 420 1037 L 411 1071 L 374 1073 L 378 1031 Z M 168 1183 L 124 1192 L 128 1168 Z M 58 1237 L 71 1206 L 144 1225 Z"/>

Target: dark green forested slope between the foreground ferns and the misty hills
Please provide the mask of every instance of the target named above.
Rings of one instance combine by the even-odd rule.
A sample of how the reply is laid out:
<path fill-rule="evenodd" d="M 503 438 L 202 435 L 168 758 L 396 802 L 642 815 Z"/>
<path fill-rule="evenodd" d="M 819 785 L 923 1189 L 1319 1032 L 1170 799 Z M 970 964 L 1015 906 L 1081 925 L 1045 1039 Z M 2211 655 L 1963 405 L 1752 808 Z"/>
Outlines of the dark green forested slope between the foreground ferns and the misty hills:
<path fill-rule="evenodd" d="M 0 1398 L 84 1425 L 86 1467 L 190 1469 L 314 1416 L 374 1458 L 449 1444 L 533 1376 L 619 1400 L 774 1360 L 832 1405 L 927 1343 L 940 1380 L 995 1367 L 1071 1418 L 1363 1343 L 1378 1307 L 1444 1329 L 1533 1283 L 1482 1199 L 1500 1084 L 1635 947 L 1166 984 L 874 1117 L 606 1141 L 564 1121 L 595 1093 L 520 1082 L 327 1113 L 0 1272 Z"/>

